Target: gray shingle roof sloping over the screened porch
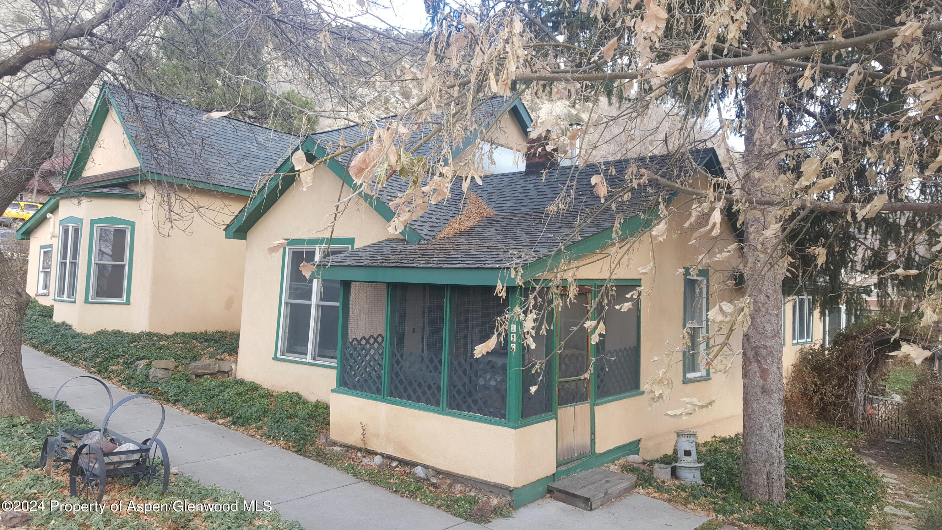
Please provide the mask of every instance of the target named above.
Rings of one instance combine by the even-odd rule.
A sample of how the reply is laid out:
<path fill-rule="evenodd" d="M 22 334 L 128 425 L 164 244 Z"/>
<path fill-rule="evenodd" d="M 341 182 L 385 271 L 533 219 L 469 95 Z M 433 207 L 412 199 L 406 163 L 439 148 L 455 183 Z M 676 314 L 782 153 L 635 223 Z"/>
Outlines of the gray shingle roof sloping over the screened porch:
<path fill-rule="evenodd" d="M 614 189 L 624 186 L 626 175 L 630 177 L 633 168 L 682 180 L 689 177 L 695 167 L 708 165 L 715 157 L 713 149 L 700 149 L 581 167 L 557 167 L 548 172 L 487 175 L 483 186 L 473 186 L 469 191 L 478 193 L 495 210 L 495 215 L 447 238 L 420 243 L 399 239 L 378 241 L 333 257 L 330 265 L 488 269 L 531 263 L 611 228 L 617 215 L 627 220 L 657 206 L 660 186 L 646 184 L 633 190 L 627 201 L 617 203 L 616 209 L 600 208 L 599 198 L 590 183 L 593 175 L 605 174 L 609 188 Z M 567 198 L 567 207 L 561 214 L 551 215 L 546 207 L 560 197 Z M 438 219 L 456 217 L 461 199 L 461 186 L 456 183 L 452 197 L 446 203 L 430 207 L 418 221 L 437 212 L 436 221 L 425 225 L 427 233 L 440 225 L 434 232 L 437 235 L 447 224 Z M 577 224 L 580 224 L 578 232 Z"/>

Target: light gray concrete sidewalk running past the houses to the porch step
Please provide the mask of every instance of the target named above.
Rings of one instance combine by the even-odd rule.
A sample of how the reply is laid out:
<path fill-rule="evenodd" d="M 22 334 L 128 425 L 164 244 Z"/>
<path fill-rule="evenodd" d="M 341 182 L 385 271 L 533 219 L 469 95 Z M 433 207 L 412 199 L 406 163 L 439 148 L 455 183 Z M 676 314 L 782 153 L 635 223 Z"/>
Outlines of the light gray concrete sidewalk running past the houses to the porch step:
<path fill-rule="evenodd" d="M 49 399 L 65 381 L 89 374 L 27 346 L 23 365 L 30 389 Z M 115 403 L 131 395 L 108 386 Z M 105 389 L 90 379 L 73 381 L 59 399 L 91 422 L 100 425 L 105 419 Z M 108 428 L 139 441 L 151 437 L 159 421 L 160 406 L 137 399 L 118 409 Z M 238 491 L 249 500 L 270 501 L 284 518 L 307 530 L 693 530 L 707 521 L 633 494 L 592 512 L 544 499 L 517 510 L 512 518 L 480 526 L 171 407 L 158 438 L 167 445 L 171 465 L 181 472 L 203 484 Z"/>

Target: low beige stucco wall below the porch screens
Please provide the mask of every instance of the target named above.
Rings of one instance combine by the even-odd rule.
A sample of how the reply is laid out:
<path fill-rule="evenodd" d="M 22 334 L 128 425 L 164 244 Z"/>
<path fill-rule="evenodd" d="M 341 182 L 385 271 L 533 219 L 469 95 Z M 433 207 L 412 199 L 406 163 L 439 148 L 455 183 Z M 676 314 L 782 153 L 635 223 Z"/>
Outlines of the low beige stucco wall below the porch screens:
<path fill-rule="evenodd" d="M 511 429 L 334 393 L 331 438 L 363 446 L 364 432 L 375 451 L 512 488 L 556 471 L 556 422 Z"/>

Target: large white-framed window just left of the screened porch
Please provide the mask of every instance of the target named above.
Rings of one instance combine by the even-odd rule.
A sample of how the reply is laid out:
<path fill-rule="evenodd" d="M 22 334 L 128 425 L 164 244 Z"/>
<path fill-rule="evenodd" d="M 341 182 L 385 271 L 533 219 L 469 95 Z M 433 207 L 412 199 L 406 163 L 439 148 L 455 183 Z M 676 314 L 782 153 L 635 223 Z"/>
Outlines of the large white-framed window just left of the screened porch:
<path fill-rule="evenodd" d="M 285 248 L 279 356 L 337 362 L 340 280 L 321 280 L 313 273 L 306 278 L 300 267 L 348 250 L 347 245 Z"/>

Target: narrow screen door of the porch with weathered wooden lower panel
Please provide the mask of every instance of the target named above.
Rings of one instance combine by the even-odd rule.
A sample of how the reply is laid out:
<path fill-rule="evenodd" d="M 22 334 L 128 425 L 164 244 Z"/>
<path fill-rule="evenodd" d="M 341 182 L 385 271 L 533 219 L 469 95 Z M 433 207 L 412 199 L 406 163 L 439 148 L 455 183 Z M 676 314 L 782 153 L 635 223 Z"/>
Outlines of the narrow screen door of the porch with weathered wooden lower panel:
<path fill-rule="evenodd" d="M 565 298 L 565 296 L 563 297 Z M 559 462 L 592 452 L 592 404 L 589 371 L 589 293 L 579 292 L 574 302 L 563 302 L 559 312 L 557 399 L 557 447 Z"/>

